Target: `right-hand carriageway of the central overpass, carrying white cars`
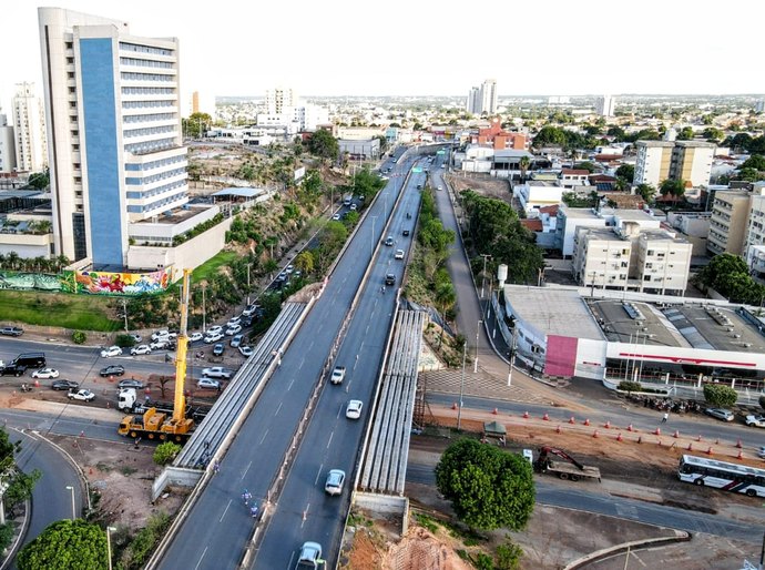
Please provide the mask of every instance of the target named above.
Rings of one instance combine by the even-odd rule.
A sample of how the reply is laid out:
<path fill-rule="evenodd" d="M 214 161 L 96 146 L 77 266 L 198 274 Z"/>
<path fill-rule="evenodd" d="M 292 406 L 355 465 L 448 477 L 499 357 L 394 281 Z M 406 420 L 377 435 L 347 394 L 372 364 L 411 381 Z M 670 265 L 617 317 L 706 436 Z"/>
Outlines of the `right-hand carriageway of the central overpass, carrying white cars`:
<path fill-rule="evenodd" d="M 394 273 L 400 285 L 405 264 L 404 261 L 395 259 L 395 251 L 400 248 L 408 252 L 411 245 L 414 232 L 409 236 L 404 236 L 402 232 L 414 230 L 414 214 L 419 208 L 419 191 L 416 186 L 424 181 L 424 173 L 410 177 L 399 207 L 381 236 L 381 240 L 391 236 L 395 243 L 392 246 L 380 246 L 335 360 L 336 364 L 346 366 L 346 379 L 340 386 L 328 384 L 320 395 L 316 413 L 287 476 L 278 508 L 264 529 L 253 568 L 292 568 L 297 550 L 307 540 L 323 546 L 327 568 L 335 566 L 350 489 L 360 460 L 363 428 L 371 414 L 370 401 L 392 319 L 395 291 L 388 287 L 382 293 L 380 287 L 388 273 Z M 378 197 L 377 205 L 386 199 L 392 200 L 387 191 Z M 407 213 L 412 216 L 407 218 Z M 376 214 L 373 211 L 368 216 Z M 370 225 L 368 230 L 363 226 L 357 237 L 363 237 L 363 233 L 370 230 Z M 361 238 L 360 243 L 351 244 L 346 256 L 359 258 L 364 255 L 363 250 L 368 246 L 366 240 Z M 360 421 L 345 418 L 345 407 L 349 399 L 365 403 Z M 346 472 L 344 491 L 339 497 L 329 497 L 324 492 L 329 469 Z"/>

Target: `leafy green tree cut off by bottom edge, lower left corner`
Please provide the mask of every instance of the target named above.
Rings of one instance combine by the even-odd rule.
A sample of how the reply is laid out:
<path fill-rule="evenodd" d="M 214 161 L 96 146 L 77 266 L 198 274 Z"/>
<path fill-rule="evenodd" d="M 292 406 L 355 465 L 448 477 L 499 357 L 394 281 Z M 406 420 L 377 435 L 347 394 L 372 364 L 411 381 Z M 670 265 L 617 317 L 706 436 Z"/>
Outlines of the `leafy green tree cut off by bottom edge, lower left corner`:
<path fill-rule="evenodd" d="M 96 525 L 59 520 L 21 549 L 16 563 L 19 570 L 105 570 L 106 557 L 106 535 Z"/>

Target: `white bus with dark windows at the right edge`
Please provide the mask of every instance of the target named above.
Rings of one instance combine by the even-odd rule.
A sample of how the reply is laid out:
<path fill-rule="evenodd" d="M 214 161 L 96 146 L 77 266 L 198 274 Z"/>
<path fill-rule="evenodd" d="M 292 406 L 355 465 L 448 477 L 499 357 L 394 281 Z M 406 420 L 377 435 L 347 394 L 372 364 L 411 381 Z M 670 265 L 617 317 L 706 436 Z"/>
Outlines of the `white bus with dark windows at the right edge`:
<path fill-rule="evenodd" d="M 680 459 L 677 478 L 694 485 L 745 492 L 749 497 L 765 497 L 765 469 L 746 465 L 684 455 Z"/>

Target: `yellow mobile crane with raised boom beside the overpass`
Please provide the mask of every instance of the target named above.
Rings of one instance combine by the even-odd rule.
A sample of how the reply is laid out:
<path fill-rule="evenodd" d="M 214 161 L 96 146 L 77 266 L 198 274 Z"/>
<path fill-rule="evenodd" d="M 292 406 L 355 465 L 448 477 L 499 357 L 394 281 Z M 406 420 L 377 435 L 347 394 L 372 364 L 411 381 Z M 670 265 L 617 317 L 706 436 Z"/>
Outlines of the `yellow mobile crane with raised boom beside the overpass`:
<path fill-rule="evenodd" d="M 185 441 L 194 429 L 194 420 L 187 418 L 186 396 L 184 394 L 186 380 L 186 352 L 188 349 L 188 289 L 191 269 L 183 269 L 183 293 L 181 301 L 181 333 L 177 337 L 175 353 L 175 398 L 173 415 L 169 416 L 156 408 L 149 408 L 143 415 L 125 416 L 120 423 L 118 434 L 132 438 L 146 437 L 149 439 Z"/>

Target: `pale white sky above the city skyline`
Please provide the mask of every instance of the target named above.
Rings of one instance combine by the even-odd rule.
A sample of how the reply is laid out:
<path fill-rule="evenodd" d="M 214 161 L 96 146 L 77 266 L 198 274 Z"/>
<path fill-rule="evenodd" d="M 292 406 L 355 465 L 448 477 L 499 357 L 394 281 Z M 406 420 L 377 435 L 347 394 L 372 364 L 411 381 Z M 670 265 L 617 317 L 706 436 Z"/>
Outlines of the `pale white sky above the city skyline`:
<path fill-rule="evenodd" d="M 12 8 L 10 8 L 12 6 Z M 14 83 L 42 92 L 34 0 L 3 9 L 0 104 Z M 181 41 L 181 89 L 206 96 L 292 86 L 299 95 L 765 92 L 752 22 L 765 2 L 730 0 L 62 0 Z M 747 24 L 748 22 L 748 24 Z"/>

